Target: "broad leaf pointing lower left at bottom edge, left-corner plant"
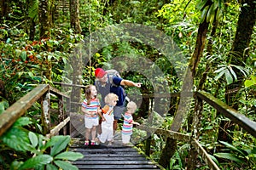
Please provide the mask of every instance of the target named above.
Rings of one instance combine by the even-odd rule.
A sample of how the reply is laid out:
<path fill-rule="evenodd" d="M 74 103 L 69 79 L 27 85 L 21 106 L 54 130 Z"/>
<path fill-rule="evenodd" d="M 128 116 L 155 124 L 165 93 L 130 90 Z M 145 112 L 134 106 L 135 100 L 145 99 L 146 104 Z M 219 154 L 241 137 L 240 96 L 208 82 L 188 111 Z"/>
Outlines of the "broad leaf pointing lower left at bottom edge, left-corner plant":
<path fill-rule="evenodd" d="M 40 167 L 53 161 L 53 157 L 49 155 L 35 156 L 23 163 L 20 169 L 28 169 L 33 167 Z"/>

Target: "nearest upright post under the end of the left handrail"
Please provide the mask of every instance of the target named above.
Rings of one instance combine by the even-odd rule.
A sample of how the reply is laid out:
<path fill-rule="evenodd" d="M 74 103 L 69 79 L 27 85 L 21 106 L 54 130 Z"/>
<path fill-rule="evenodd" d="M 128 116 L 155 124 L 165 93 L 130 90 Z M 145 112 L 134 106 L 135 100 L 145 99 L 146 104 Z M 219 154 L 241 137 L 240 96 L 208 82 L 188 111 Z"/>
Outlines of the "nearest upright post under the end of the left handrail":
<path fill-rule="evenodd" d="M 49 129 L 50 129 L 49 90 L 41 98 L 41 106 L 42 106 L 41 118 L 42 118 L 43 134 L 45 135 L 49 133 Z"/>

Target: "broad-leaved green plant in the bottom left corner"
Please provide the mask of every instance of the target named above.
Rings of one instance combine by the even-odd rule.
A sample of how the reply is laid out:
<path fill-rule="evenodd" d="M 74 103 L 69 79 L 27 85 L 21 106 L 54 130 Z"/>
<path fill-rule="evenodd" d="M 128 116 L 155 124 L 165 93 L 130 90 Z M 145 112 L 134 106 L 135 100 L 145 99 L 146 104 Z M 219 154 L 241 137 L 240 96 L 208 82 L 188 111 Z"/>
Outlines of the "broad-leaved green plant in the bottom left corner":
<path fill-rule="evenodd" d="M 8 169 L 78 169 L 70 161 L 76 161 L 83 155 L 66 150 L 71 141 L 70 136 L 54 136 L 47 139 L 41 134 L 24 128 L 31 124 L 29 117 L 20 117 L 1 136 L 0 140 L 3 143 L 0 147 L 0 161 L 4 162 L 4 167 Z M 10 155 L 9 150 L 15 150 L 12 151 L 14 155 Z"/>

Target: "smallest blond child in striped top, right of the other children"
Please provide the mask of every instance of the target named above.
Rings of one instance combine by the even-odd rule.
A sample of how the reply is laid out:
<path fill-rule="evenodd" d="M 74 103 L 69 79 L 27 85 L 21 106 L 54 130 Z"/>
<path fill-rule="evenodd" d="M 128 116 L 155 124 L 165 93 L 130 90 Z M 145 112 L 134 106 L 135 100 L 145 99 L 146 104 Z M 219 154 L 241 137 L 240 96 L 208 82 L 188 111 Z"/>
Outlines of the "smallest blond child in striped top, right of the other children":
<path fill-rule="evenodd" d="M 135 113 L 137 110 L 137 105 L 133 101 L 130 101 L 127 104 L 127 111 L 125 112 L 124 115 L 124 123 L 122 127 L 122 143 L 129 144 L 130 139 L 131 139 L 131 134 L 132 134 L 132 127 L 134 124 L 140 125 L 138 122 L 133 121 L 132 114 Z"/>

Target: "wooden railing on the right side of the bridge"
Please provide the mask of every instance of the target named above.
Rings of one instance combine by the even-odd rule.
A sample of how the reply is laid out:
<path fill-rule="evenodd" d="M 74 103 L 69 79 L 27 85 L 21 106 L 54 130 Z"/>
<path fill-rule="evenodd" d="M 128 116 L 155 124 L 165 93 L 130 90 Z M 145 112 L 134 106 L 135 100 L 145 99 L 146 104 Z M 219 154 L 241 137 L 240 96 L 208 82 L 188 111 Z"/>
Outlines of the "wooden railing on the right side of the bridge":
<path fill-rule="evenodd" d="M 247 131 L 247 133 L 250 133 L 254 137 L 256 137 L 256 122 L 253 122 L 252 120 L 247 118 L 247 116 L 244 116 L 238 111 L 235 111 L 230 106 L 224 104 L 224 102 L 214 98 L 211 94 L 207 94 L 204 91 L 196 92 L 194 96 L 202 99 L 209 105 L 212 105 L 212 107 L 215 108 L 219 113 L 224 114 L 224 116 L 230 118 L 230 121 L 236 122 L 240 127 Z M 148 126 L 137 126 L 137 128 L 146 131 L 149 134 L 155 133 L 157 135 L 163 136 L 165 137 L 165 139 L 170 138 L 177 141 L 187 142 L 191 145 L 192 148 L 194 148 L 194 150 L 197 151 L 198 155 L 201 156 L 202 160 L 207 163 L 210 169 L 220 169 L 218 165 L 214 161 L 212 161 L 212 158 L 208 155 L 207 150 L 203 148 L 203 146 L 199 143 L 197 139 L 193 138 L 190 135 Z M 150 149 L 150 139 L 147 140 L 147 143 L 148 141 L 149 144 L 146 144 L 146 152 L 148 150 L 147 148 Z"/>

